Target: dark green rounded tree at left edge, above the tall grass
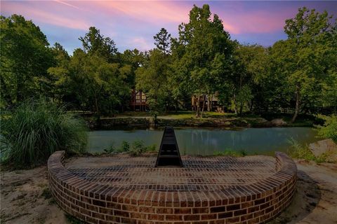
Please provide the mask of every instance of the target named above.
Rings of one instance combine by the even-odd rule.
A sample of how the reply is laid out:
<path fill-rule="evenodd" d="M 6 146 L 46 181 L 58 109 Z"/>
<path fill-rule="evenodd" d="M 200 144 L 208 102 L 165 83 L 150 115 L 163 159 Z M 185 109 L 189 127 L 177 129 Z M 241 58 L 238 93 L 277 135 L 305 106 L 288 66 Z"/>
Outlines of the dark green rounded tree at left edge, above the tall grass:
<path fill-rule="evenodd" d="M 46 36 L 22 15 L 1 16 L 0 29 L 1 106 L 48 94 L 52 82 L 47 69 L 53 55 Z"/>

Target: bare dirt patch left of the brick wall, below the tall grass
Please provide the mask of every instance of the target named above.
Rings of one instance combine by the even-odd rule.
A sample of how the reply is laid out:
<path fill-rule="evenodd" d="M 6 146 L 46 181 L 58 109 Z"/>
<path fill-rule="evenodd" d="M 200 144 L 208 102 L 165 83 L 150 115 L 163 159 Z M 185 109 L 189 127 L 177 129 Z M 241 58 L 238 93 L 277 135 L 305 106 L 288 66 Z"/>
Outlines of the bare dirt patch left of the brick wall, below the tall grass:
<path fill-rule="evenodd" d="M 67 223 L 49 191 L 46 166 L 1 172 L 1 223 Z"/>

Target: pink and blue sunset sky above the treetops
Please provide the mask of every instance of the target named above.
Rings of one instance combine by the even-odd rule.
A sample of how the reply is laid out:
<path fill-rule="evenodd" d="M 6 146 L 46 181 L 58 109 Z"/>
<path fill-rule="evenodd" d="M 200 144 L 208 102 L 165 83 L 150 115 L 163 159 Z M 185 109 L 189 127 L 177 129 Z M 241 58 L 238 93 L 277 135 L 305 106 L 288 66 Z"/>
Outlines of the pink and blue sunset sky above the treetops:
<path fill-rule="evenodd" d="M 337 1 L 1 1 L 1 15 L 20 14 L 72 54 L 91 26 L 114 40 L 120 52 L 150 50 L 153 36 L 164 27 L 178 36 L 193 5 L 208 3 L 232 39 L 269 46 L 285 39 L 284 21 L 306 6 L 337 17 Z"/>

